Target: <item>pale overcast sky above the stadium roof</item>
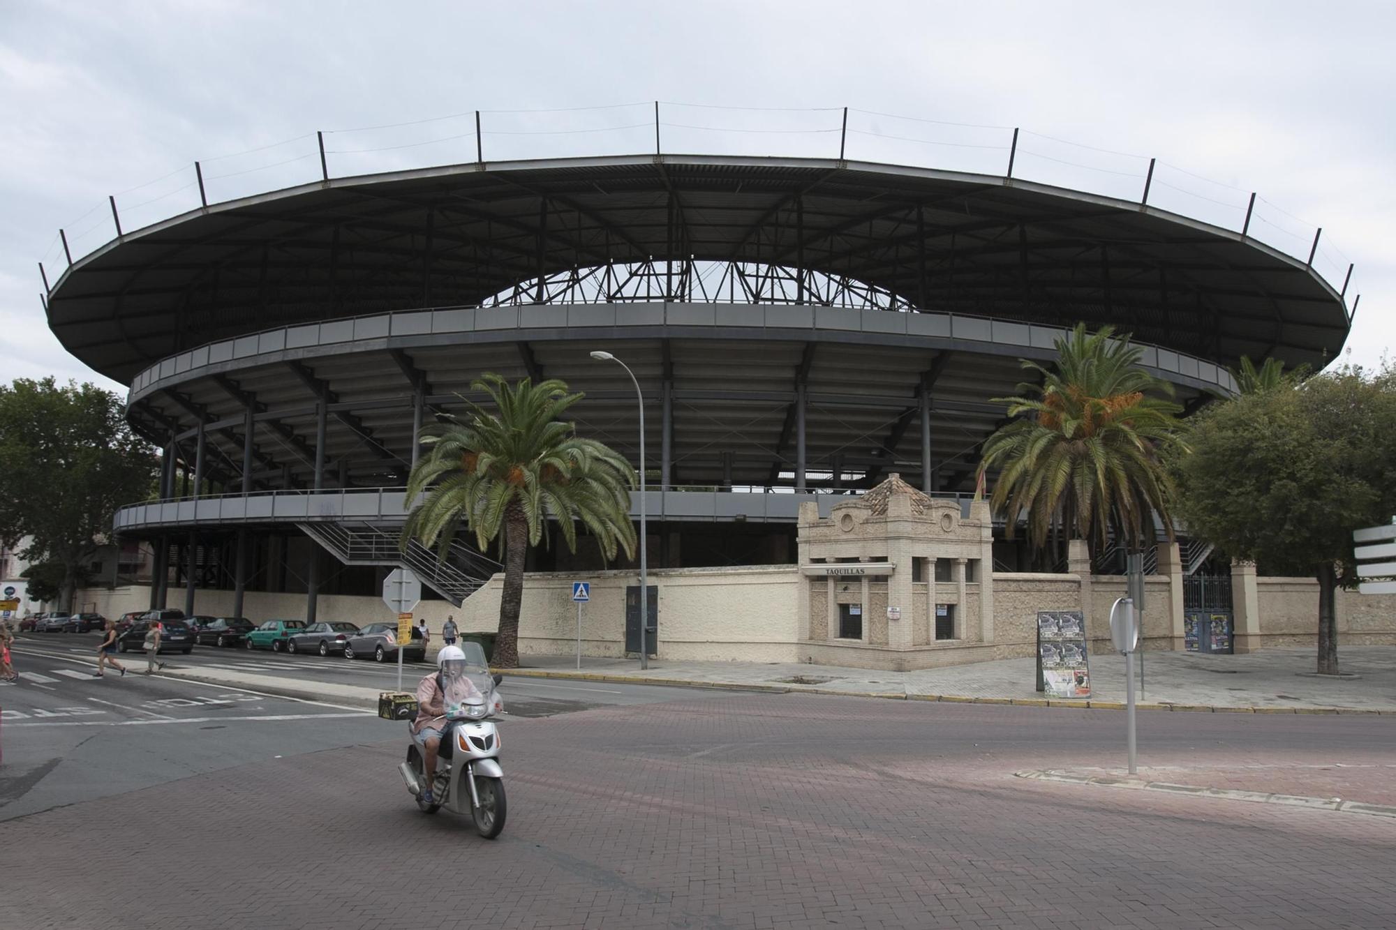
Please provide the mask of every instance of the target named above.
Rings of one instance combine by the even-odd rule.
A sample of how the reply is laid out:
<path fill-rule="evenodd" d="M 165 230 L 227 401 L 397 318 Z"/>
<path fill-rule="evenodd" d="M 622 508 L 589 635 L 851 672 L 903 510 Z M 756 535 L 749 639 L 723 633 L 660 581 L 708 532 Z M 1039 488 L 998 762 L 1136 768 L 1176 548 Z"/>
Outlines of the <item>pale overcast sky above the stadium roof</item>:
<path fill-rule="evenodd" d="M 61 271 L 60 226 L 74 251 L 110 237 L 107 194 L 130 230 L 197 204 L 194 159 L 211 200 L 311 180 L 315 130 L 416 123 L 328 135 L 335 175 L 473 161 L 476 109 L 487 159 L 649 151 L 652 103 L 507 110 L 655 99 L 674 152 L 832 156 L 839 113 L 814 108 L 849 106 L 850 158 L 1001 173 L 997 127 L 1020 126 L 1029 179 L 1138 197 L 1152 155 L 1150 202 L 1231 228 L 1256 190 L 1252 232 L 1307 254 L 1321 225 L 1325 272 L 1356 263 L 1347 350 L 1372 364 L 1396 332 L 1393 21 L 1312 1 L 0 3 L 0 377 L 117 387 L 49 332 L 36 264 Z"/>

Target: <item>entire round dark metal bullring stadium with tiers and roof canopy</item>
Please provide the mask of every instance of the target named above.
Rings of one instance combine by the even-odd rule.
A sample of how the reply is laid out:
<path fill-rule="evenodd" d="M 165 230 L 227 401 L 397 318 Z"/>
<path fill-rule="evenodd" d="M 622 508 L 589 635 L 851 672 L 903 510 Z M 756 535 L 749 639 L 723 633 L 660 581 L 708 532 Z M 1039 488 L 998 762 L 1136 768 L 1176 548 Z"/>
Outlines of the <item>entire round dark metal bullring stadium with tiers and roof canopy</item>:
<path fill-rule="evenodd" d="M 493 574 L 463 542 L 445 563 L 396 542 L 416 431 L 486 371 L 567 381 L 578 431 L 638 464 L 635 388 L 589 353 L 623 360 L 651 566 L 699 568 L 794 563 L 801 503 L 828 514 L 892 473 L 967 515 L 993 398 L 1078 321 L 1129 334 L 1187 411 L 1234 390 L 1241 356 L 1340 352 L 1346 282 L 1312 251 L 1011 172 L 676 154 L 325 172 L 119 232 L 46 310 L 165 451 L 159 500 L 114 525 L 156 553 L 151 606 L 172 585 L 190 612 L 232 591 L 236 616 L 246 591 L 293 592 L 309 619 L 392 566 L 454 605 Z M 995 567 L 1026 564 L 994 532 Z M 602 567 L 560 545 L 529 564 Z"/>

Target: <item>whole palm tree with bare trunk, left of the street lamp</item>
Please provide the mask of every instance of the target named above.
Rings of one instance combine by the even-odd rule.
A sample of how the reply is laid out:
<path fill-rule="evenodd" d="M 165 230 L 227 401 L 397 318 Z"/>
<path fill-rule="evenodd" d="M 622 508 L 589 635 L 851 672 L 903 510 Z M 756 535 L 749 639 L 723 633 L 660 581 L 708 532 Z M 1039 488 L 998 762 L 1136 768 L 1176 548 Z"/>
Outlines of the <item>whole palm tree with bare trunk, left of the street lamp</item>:
<path fill-rule="evenodd" d="M 630 489 L 635 469 L 618 452 L 577 436 L 561 420 L 582 394 L 568 394 L 556 378 L 514 387 L 498 374 L 486 374 L 470 387 L 484 391 L 498 413 L 469 402 L 451 422 L 430 426 L 422 443 L 430 451 L 412 469 L 408 500 L 426 497 L 408 514 L 403 546 L 416 536 L 436 545 L 445 559 L 451 538 L 463 522 L 480 549 L 500 540 L 504 552 L 504 593 L 493 662 L 518 665 L 519 605 L 524 596 L 524 557 L 544 538 L 549 518 L 571 552 L 577 552 L 577 521 L 591 531 L 610 560 L 617 547 L 635 552 L 630 522 Z M 501 539 L 503 535 L 503 539 Z"/>

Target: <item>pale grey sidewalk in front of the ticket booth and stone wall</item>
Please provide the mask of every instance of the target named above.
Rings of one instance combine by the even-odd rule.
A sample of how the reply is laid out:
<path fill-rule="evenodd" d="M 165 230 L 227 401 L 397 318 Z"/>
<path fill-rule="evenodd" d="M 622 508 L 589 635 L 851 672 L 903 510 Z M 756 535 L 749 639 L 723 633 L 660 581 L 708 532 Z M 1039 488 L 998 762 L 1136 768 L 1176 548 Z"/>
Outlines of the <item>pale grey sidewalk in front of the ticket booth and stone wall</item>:
<path fill-rule="evenodd" d="M 1090 658 L 1093 697 L 1046 700 L 1034 690 L 1034 662 L 1000 659 L 920 672 L 877 672 L 829 665 L 651 660 L 528 655 L 510 674 L 653 684 L 814 691 L 882 698 L 974 701 L 981 704 L 1050 704 L 1053 707 L 1122 707 L 1124 658 Z M 1312 674 L 1315 655 L 1305 649 L 1263 649 L 1249 655 L 1145 652 L 1141 708 L 1237 711 L 1256 714 L 1361 712 L 1396 715 L 1396 647 L 1347 647 L 1340 669 L 1358 677 Z M 1138 676 L 1138 665 L 1136 679 Z"/>

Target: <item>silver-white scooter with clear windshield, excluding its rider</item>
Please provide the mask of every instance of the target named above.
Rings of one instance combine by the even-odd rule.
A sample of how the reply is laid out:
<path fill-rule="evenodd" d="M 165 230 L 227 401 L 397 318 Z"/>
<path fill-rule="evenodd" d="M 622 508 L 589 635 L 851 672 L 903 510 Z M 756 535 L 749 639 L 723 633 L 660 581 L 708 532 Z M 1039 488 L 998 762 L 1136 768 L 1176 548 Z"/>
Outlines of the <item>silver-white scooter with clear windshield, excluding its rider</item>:
<path fill-rule="evenodd" d="M 494 839 L 504 829 L 507 813 L 504 769 L 500 768 L 500 730 L 489 719 L 503 709 L 496 690 L 500 676 L 490 674 L 484 649 L 477 642 L 466 642 L 461 648 L 475 694 L 447 708 L 431 803 L 422 799 L 426 781 L 424 750 L 415 737 L 409 737 L 408 758 L 398 765 L 398 771 L 422 813 L 434 814 L 445 807 L 452 814 L 470 814 L 476 831 L 486 839 Z"/>

